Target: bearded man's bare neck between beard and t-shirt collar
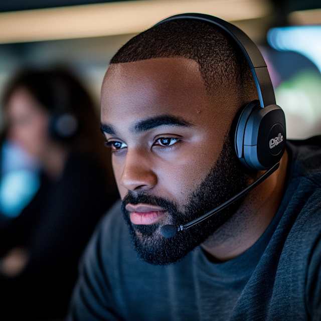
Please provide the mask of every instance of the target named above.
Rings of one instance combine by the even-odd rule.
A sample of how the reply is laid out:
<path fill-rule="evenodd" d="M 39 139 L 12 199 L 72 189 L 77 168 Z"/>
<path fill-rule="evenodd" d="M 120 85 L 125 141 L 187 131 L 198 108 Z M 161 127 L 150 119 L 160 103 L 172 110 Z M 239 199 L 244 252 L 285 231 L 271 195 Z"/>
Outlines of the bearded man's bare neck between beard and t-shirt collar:
<path fill-rule="evenodd" d="M 204 250 L 225 262 L 245 252 L 261 237 L 281 204 L 287 162 L 285 151 L 280 167 L 251 191 L 238 211 L 202 244 Z M 258 173 L 260 175 L 262 172 Z"/>

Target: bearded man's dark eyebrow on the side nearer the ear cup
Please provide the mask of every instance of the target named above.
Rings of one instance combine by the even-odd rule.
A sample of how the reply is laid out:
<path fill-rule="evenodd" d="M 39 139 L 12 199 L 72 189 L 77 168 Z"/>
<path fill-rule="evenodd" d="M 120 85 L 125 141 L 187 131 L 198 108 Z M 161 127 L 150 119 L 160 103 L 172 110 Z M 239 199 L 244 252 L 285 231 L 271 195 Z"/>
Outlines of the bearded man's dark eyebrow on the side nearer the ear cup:
<path fill-rule="evenodd" d="M 192 124 L 182 118 L 169 116 L 169 115 L 161 115 L 156 117 L 150 117 L 143 120 L 138 121 L 134 126 L 133 130 L 135 133 L 144 132 L 158 126 L 163 125 L 172 125 L 172 126 L 182 126 L 182 127 L 190 127 Z"/>

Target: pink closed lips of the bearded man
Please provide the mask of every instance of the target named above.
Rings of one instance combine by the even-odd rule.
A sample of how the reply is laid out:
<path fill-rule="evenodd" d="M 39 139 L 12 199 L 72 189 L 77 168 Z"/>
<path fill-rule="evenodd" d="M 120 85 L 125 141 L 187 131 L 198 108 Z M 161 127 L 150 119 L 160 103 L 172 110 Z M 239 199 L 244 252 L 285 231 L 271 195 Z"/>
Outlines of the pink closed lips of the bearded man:
<path fill-rule="evenodd" d="M 157 223 L 165 215 L 167 210 L 159 206 L 147 204 L 127 204 L 130 221 L 135 225 L 151 225 Z"/>

